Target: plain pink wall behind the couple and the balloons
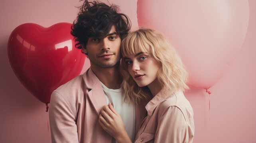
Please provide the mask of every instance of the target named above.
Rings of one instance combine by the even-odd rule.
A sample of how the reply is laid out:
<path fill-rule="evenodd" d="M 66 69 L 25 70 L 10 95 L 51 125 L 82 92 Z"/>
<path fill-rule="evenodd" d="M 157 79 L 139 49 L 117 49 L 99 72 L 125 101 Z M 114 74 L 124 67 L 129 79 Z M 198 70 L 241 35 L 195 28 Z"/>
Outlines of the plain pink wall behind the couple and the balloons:
<path fill-rule="evenodd" d="M 138 28 L 136 0 L 109 0 L 120 6 Z M 256 0 L 248 0 L 250 19 L 242 49 L 210 88 L 191 87 L 185 93 L 194 109 L 195 143 L 256 143 Z M 7 41 L 20 24 L 36 23 L 49 27 L 72 23 L 78 0 L 1 0 L 0 1 L 0 142 L 51 143 L 45 104 L 37 100 L 18 81 L 8 61 Z M 88 61 L 87 61 L 88 62 Z M 82 72 L 86 70 L 86 67 Z"/>

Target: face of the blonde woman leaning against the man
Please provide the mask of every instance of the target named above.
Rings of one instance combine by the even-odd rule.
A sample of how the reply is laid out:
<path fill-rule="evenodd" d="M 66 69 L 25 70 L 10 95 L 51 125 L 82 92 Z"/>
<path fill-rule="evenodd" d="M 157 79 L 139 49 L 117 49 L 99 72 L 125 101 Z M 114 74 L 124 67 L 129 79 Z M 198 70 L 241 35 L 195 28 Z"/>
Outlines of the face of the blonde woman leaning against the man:
<path fill-rule="evenodd" d="M 128 72 L 139 87 L 157 80 L 158 63 L 147 53 L 131 54 L 123 58 Z"/>

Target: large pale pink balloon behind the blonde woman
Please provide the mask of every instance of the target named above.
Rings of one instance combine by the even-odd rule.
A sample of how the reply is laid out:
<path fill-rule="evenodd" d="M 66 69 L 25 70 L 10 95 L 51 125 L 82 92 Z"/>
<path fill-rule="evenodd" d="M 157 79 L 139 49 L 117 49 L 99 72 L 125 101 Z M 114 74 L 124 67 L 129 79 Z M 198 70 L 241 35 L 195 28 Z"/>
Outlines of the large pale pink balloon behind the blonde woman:
<path fill-rule="evenodd" d="M 138 24 L 169 38 L 189 72 L 208 89 L 222 77 L 245 39 L 247 0 L 138 0 Z"/>

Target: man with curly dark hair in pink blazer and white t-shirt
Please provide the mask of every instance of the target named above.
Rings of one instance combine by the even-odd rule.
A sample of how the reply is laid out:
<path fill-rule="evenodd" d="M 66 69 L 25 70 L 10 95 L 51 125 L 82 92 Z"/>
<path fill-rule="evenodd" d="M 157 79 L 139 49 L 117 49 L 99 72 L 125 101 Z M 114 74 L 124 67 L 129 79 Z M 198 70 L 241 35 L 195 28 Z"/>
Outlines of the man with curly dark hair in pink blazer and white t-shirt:
<path fill-rule="evenodd" d="M 49 120 L 52 143 L 112 143 L 98 122 L 100 110 L 112 104 L 133 141 L 146 111 L 143 104 L 124 102 L 120 88 L 120 43 L 130 30 L 116 6 L 85 0 L 71 34 L 90 60 L 83 75 L 61 85 L 51 95 Z"/>

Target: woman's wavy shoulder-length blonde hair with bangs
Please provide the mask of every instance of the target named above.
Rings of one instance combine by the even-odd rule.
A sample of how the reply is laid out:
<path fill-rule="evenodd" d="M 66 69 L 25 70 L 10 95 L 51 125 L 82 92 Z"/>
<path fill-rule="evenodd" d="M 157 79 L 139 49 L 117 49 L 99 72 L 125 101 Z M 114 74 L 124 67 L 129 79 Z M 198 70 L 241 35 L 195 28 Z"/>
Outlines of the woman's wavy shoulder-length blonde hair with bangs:
<path fill-rule="evenodd" d="M 159 32 L 152 29 L 139 29 L 123 39 L 121 43 L 122 57 L 139 52 L 148 53 L 151 58 L 157 61 L 158 81 L 163 89 L 182 90 L 189 89 L 186 85 L 188 73 L 181 62 L 181 58 L 168 40 Z M 122 87 L 126 93 L 125 99 L 128 102 L 149 101 L 151 93 L 148 87 L 139 87 L 132 76 L 128 73 L 127 65 L 124 60 L 121 64 L 124 80 Z"/>

